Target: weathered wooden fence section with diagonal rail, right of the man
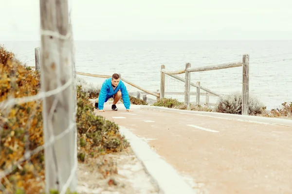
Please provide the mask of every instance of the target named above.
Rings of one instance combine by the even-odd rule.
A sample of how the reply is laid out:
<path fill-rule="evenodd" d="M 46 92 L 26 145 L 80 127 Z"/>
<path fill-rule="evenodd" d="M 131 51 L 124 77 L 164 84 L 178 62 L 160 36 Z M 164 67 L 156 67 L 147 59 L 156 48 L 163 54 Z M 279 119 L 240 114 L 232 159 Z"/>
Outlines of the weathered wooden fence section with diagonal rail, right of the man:
<path fill-rule="evenodd" d="M 242 66 L 242 114 L 247 115 L 249 111 L 249 55 L 243 55 L 242 61 L 235 62 L 235 63 L 227 63 L 227 64 L 220 64 L 220 65 L 210 65 L 210 66 L 203 66 L 203 67 L 191 67 L 190 63 L 185 64 L 185 69 L 177 70 L 177 71 L 169 71 L 165 69 L 165 65 L 161 65 L 161 83 L 160 83 L 160 97 L 163 98 L 165 94 L 165 74 L 175 78 L 179 81 L 183 81 L 184 84 L 184 103 L 187 105 L 189 109 L 190 106 L 190 87 L 194 86 L 197 88 L 197 92 L 195 93 L 196 104 L 200 104 L 200 89 L 206 91 L 206 95 L 212 94 L 214 96 L 220 97 L 221 95 L 217 92 L 214 92 L 210 89 L 207 89 L 201 86 L 200 81 L 197 84 L 191 82 L 191 72 L 199 72 L 199 71 L 210 71 L 210 70 L 218 70 L 218 69 L 227 69 L 233 67 Z M 184 79 L 177 76 L 178 74 L 185 74 Z M 206 100 L 206 102 L 208 102 Z"/>

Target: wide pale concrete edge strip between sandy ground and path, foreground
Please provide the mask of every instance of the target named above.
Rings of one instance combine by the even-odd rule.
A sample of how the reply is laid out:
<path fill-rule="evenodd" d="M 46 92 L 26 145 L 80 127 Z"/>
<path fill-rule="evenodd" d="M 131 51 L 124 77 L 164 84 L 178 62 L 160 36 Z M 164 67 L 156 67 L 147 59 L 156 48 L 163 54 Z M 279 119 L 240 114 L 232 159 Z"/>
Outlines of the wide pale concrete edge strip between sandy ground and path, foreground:
<path fill-rule="evenodd" d="M 133 152 L 138 160 L 143 163 L 146 172 L 156 181 L 161 193 L 195 194 L 195 191 L 177 171 L 152 150 L 145 141 L 134 135 L 127 128 L 119 127 L 120 133 L 125 135 Z"/>

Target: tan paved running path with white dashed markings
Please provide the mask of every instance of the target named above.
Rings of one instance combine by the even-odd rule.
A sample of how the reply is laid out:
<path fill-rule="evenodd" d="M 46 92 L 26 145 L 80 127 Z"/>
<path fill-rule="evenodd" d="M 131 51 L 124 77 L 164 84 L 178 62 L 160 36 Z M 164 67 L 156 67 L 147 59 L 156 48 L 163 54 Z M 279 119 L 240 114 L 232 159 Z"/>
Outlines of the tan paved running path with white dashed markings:
<path fill-rule="evenodd" d="M 99 113 L 210 194 L 292 194 L 292 127 L 132 109 Z"/>

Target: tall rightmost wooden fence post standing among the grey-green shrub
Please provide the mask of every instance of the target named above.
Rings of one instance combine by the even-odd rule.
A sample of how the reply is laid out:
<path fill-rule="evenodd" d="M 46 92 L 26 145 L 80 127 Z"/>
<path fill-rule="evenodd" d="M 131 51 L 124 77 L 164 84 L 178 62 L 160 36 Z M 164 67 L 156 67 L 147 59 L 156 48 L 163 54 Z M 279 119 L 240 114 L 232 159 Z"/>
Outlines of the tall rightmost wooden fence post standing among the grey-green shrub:
<path fill-rule="evenodd" d="M 242 56 L 242 107 L 241 114 L 249 112 L 249 55 Z"/>

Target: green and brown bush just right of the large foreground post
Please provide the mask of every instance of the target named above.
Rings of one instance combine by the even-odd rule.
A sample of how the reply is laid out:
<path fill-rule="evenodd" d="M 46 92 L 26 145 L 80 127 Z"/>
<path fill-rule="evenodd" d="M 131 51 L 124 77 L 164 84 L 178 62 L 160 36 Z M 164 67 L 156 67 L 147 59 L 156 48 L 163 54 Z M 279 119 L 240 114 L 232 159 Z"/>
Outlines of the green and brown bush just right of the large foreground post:
<path fill-rule="evenodd" d="M 78 131 L 79 160 L 84 161 L 92 153 L 104 154 L 106 152 L 122 151 L 129 144 L 124 136 L 119 133 L 117 124 L 106 120 L 101 115 L 95 115 L 94 107 L 82 86 L 77 86 L 77 113 L 76 124 Z"/>

